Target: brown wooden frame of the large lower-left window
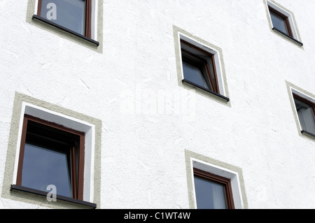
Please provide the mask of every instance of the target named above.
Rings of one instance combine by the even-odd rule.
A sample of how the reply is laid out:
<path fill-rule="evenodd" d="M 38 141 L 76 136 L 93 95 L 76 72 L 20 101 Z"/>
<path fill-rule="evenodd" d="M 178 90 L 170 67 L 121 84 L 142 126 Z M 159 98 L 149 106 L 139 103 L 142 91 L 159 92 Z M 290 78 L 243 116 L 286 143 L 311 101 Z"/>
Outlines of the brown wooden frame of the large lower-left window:
<path fill-rule="evenodd" d="M 76 161 L 75 148 L 71 148 L 71 192 L 72 198 L 83 201 L 83 182 L 84 182 L 84 154 L 85 154 L 85 133 L 76 131 L 73 129 L 66 128 L 62 125 L 48 122 L 45 120 L 41 120 L 38 117 L 33 117 L 31 115 L 25 115 L 22 125 L 22 136 L 20 143 L 20 154 L 18 161 L 18 174 L 16 179 L 16 185 L 22 187 L 22 166 L 24 159 L 24 151 L 25 151 L 25 143 L 27 136 L 27 125 L 31 122 L 36 122 L 37 124 L 41 124 L 45 127 L 50 127 L 56 129 L 56 131 L 63 131 L 66 134 L 72 134 L 78 136 L 78 161 Z M 78 164 L 78 170 L 76 170 L 76 164 Z M 78 179 L 76 179 L 76 172 L 78 172 Z M 33 189 L 30 189 L 32 191 Z"/>

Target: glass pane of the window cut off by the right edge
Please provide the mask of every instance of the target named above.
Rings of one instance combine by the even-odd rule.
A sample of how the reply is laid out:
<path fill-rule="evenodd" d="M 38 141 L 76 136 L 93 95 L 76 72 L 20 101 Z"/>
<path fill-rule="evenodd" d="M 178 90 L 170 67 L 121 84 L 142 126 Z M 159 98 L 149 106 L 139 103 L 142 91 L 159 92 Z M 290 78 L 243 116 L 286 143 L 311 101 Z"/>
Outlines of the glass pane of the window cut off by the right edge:
<path fill-rule="evenodd" d="M 302 101 L 296 99 L 295 106 L 302 130 L 308 131 L 311 134 L 315 134 L 315 117 L 313 108 L 307 103 L 303 103 Z"/>

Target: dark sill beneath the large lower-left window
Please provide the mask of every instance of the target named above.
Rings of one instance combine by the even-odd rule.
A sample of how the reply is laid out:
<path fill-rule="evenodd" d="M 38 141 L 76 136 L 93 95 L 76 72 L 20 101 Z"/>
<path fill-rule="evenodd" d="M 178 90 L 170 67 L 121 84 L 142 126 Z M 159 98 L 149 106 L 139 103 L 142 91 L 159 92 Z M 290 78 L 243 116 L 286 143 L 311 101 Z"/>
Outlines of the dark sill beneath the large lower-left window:
<path fill-rule="evenodd" d="M 31 189 L 29 187 L 22 187 L 22 186 L 19 186 L 19 185 L 11 185 L 11 188 L 10 190 L 17 190 L 17 191 L 20 191 L 20 192 L 27 192 L 27 193 L 31 193 L 31 194 L 36 194 L 36 195 L 39 195 L 39 196 L 47 196 L 48 192 L 42 192 L 40 190 L 37 190 L 37 189 Z M 97 208 L 97 205 L 96 203 L 90 203 L 90 202 L 87 202 L 87 201 L 81 201 L 81 200 L 78 200 L 78 199 L 72 199 L 70 197 L 66 197 L 66 196 L 61 196 L 61 195 L 56 195 L 56 199 L 59 200 L 59 201 L 67 201 L 67 202 L 70 202 L 70 203 L 76 203 L 76 204 L 79 204 L 81 206 L 86 206 L 88 208 Z"/>

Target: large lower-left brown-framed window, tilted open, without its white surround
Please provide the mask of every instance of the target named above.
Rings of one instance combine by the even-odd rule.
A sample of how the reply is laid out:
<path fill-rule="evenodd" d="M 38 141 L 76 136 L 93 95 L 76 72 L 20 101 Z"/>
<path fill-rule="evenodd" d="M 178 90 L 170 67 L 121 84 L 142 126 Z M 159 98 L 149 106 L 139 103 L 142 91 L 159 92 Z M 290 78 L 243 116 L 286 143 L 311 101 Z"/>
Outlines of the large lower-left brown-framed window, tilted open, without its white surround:
<path fill-rule="evenodd" d="M 25 115 L 17 185 L 83 200 L 84 133 Z"/>

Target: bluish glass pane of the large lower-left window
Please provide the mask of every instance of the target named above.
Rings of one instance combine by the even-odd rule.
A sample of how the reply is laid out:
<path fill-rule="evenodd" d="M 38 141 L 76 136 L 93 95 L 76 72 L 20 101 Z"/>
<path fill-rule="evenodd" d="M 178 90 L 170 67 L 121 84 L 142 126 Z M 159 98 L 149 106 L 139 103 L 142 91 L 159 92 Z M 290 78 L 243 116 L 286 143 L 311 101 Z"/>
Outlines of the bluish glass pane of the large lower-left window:
<path fill-rule="evenodd" d="M 71 197 L 66 152 L 25 143 L 22 186 L 47 192 L 48 185 L 55 185 L 57 194 Z"/>

